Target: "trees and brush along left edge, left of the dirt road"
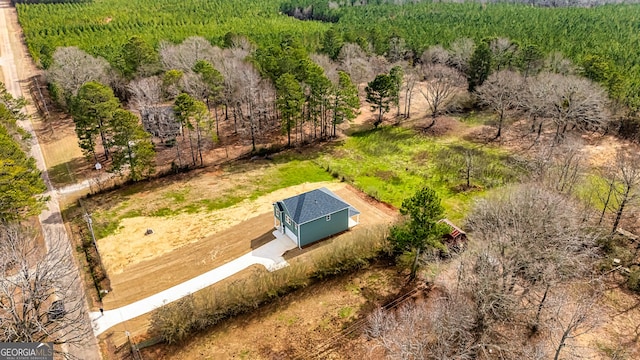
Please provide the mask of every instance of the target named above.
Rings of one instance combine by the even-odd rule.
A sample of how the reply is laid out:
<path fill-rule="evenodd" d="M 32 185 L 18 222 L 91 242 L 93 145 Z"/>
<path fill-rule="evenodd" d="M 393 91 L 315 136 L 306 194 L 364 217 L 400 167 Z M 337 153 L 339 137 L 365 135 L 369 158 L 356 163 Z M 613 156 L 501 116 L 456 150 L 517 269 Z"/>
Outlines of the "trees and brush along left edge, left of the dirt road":
<path fill-rule="evenodd" d="M 50 233 L 43 250 L 27 222 L 44 209 L 46 186 L 17 124 L 24 105 L 0 83 L 0 341 L 75 345 L 91 327 L 69 244 Z"/>

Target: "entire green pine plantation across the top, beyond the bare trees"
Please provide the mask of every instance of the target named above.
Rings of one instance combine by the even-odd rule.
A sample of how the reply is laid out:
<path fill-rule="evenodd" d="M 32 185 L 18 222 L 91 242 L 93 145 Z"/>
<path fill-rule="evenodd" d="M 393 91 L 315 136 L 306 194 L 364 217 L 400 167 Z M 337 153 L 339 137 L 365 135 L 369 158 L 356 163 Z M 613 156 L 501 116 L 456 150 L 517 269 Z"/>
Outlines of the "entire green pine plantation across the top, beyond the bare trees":
<path fill-rule="evenodd" d="M 342 41 L 366 42 L 377 54 L 388 53 L 391 39 L 402 39 L 415 58 L 431 45 L 446 47 L 461 37 L 476 42 L 506 37 L 545 54 L 559 51 L 576 64 L 588 62 L 593 65 L 589 77 L 603 83 L 613 98 L 633 108 L 640 105 L 640 54 L 631 51 L 640 47 L 640 6 L 631 4 L 548 8 L 505 3 L 338 6 L 309 0 L 97 0 L 18 4 L 18 11 L 29 49 L 44 67 L 57 46 L 78 46 L 114 64 L 133 35 L 155 47 L 160 40 L 180 42 L 194 35 L 224 45 L 228 33 L 266 46 L 286 34 L 314 51 L 333 27 Z M 301 22 L 286 14 L 326 22 Z"/>

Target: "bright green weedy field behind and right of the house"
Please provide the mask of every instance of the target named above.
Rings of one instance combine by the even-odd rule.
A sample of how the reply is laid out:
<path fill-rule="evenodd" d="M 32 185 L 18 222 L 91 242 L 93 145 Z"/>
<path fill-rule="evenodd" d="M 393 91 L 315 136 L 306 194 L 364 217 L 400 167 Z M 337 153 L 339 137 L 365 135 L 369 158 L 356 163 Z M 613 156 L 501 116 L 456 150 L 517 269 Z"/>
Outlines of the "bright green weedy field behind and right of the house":
<path fill-rule="evenodd" d="M 483 171 L 464 189 L 464 169 L 446 166 L 451 147 L 476 148 Z M 370 196 L 400 207 L 423 186 L 436 190 L 447 216 L 460 219 L 473 197 L 487 189 L 513 182 L 519 171 L 509 166 L 508 154 L 452 137 L 431 138 L 401 127 L 383 127 L 356 133 L 318 161 L 334 177 L 344 178 Z"/>

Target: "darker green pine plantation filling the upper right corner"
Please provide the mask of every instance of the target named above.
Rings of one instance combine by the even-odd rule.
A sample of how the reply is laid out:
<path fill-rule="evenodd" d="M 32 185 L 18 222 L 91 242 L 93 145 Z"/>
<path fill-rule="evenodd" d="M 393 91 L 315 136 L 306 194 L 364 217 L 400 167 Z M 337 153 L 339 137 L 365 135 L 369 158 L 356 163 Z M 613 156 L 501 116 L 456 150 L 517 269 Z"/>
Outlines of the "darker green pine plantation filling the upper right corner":
<path fill-rule="evenodd" d="M 637 45 L 635 30 L 627 20 L 617 22 L 635 17 L 631 14 L 640 10 L 637 5 L 545 9 L 505 3 L 378 3 L 339 6 L 340 2 L 295 0 L 283 3 L 281 9 L 287 13 L 292 9 L 327 12 L 339 17 L 333 29 L 345 42 L 366 42 L 379 55 L 395 52 L 392 44 L 402 42 L 404 56 L 414 61 L 428 47 L 448 46 L 460 37 L 475 42 L 510 38 L 515 46 L 532 52 L 558 51 L 583 67 L 586 76 L 603 84 L 612 98 L 634 111 L 638 108 L 638 59 L 628 50 Z"/>

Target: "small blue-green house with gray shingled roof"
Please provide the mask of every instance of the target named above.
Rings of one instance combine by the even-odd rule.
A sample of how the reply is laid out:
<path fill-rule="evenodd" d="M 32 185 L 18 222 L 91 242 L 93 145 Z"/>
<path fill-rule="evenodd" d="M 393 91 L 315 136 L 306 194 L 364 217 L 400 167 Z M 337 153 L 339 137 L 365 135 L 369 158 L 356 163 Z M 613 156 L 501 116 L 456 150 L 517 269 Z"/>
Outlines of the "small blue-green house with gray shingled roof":
<path fill-rule="evenodd" d="M 311 190 L 273 204 L 275 228 L 299 248 L 348 230 L 360 212 L 327 188 Z"/>

